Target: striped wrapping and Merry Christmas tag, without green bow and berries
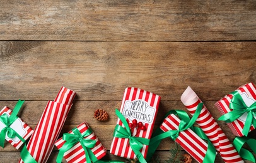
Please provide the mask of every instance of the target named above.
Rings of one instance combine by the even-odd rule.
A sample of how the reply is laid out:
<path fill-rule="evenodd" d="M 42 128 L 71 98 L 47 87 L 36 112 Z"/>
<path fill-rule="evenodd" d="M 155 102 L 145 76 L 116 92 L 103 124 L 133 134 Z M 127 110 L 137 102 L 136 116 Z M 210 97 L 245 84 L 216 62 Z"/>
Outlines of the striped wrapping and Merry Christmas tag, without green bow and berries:
<path fill-rule="evenodd" d="M 136 133 L 136 130 L 134 130 L 137 137 L 151 138 L 159 103 L 160 96 L 154 93 L 134 87 L 125 89 L 120 112 L 127 119 L 128 124 L 131 123 L 133 119 L 136 119 L 137 122 L 143 122 L 143 125 L 146 126 L 146 130 L 140 130 L 139 133 Z M 117 119 L 117 124 L 124 127 L 119 118 Z M 136 155 L 132 151 L 128 140 L 129 139 L 114 137 L 110 153 L 127 159 L 135 159 Z M 148 145 L 143 145 L 141 154 L 144 158 L 146 158 L 147 152 Z"/>

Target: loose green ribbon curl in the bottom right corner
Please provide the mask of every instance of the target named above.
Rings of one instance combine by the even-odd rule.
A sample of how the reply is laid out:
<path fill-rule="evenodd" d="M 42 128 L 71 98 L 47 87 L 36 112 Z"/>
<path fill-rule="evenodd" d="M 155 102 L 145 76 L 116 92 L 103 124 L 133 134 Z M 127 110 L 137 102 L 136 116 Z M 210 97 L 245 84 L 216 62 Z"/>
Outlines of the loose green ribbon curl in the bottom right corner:
<path fill-rule="evenodd" d="M 256 154 L 256 145 L 255 145 L 256 140 L 255 139 L 243 136 L 243 137 L 236 137 L 233 141 L 233 144 L 234 144 L 236 150 L 238 151 L 238 153 L 240 154 L 240 156 L 243 159 L 247 159 L 252 162 L 255 162 L 255 157 L 253 156 L 253 154 L 249 150 L 242 148 L 245 143 L 247 143 L 247 145 Z"/>

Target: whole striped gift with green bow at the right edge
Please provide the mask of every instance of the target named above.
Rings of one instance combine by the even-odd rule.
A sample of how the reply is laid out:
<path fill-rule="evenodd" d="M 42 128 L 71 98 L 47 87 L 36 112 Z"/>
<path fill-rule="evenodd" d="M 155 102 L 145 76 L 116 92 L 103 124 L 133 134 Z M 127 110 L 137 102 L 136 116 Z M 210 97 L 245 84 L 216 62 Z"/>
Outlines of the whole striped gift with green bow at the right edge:
<path fill-rule="evenodd" d="M 247 136 L 256 127 L 256 87 L 253 83 L 241 86 L 215 103 L 221 112 L 219 120 L 227 122 L 236 136 Z"/>

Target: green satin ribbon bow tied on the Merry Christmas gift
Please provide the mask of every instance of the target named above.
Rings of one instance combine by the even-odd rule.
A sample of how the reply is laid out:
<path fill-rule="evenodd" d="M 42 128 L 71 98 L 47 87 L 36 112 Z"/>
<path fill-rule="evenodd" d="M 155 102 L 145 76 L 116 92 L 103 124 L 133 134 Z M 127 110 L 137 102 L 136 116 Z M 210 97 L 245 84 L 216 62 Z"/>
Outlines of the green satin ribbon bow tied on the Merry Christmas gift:
<path fill-rule="evenodd" d="M 144 159 L 140 150 L 143 148 L 143 144 L 149 145 L 149 139 L 132 136 L 129 125 L 122 113 L 120 113 L 119 110 L 115 109 L 115 114 L 117 115 L 117 117 L 120 118 L 122 124 L 124 124 L 124 127 L 116 125 L 113 132 L 113 137 L 129 139 L 129 145 L 131 146 L 134 154 L 136 154 L 137 159 L 139 159 L 139 162 L 146 163 L 146 160 Z"/>

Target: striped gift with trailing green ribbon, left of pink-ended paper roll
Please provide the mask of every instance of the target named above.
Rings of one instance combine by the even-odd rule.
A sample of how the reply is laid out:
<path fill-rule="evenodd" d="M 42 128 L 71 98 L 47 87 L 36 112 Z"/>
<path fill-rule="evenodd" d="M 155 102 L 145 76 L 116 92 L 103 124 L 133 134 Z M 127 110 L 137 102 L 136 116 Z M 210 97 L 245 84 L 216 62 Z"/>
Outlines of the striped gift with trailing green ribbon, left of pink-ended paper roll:
<path fill-rule="evenodd" d="M 165 115 L 163 123 L 155 130 L 149 144 L 149 155 L 152 155 L 160 145 L 162 139 L 171 138 L 186 150 L 197 162 L 213 163 L 216 157 L 216 150 L 199 127 L 194 127 L 195 120 L 202 110 L 202 103 L 190 119 L 183 110 L 170 110 Z"/>

